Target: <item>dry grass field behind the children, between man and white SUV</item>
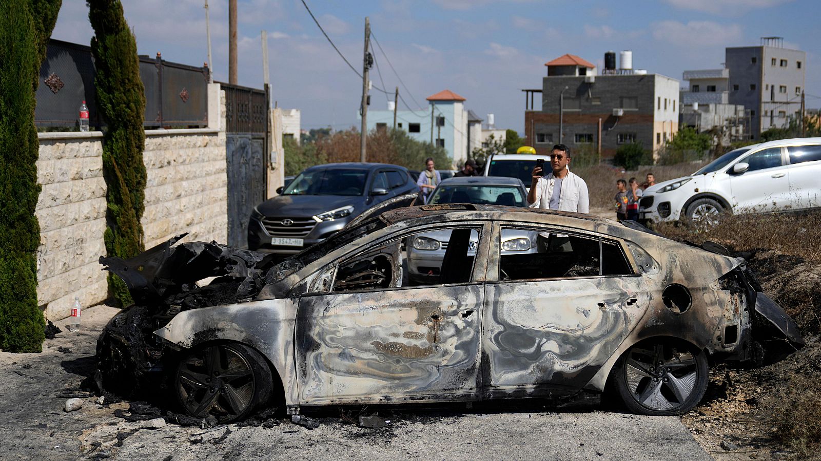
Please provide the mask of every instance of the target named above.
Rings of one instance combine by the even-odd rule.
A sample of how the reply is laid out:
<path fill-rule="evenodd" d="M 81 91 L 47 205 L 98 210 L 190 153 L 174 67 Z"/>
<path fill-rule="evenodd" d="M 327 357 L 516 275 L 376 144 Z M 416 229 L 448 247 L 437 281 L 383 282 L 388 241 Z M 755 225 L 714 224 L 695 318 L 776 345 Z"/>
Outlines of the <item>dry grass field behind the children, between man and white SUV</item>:
<path fill-rule="evenodd" d="M 616 180 L 629 180 L 631 177 L 644 182 L 647 173 L 656 176 L 656 182 L 672 180 L 687 176 L 704 166 L 704 162 L 679 163 L 677 165 L 656 165 L 653 167 L 639 167 L 635 171 L 624 171 L 621 167 L 610 165 L 594 165 L 591 167 L 576 167 L 571 170 L 581 176 L 587 183 L 590 194 L 591 208 L 612 208 L 613 195 L 616 194 Z"/>

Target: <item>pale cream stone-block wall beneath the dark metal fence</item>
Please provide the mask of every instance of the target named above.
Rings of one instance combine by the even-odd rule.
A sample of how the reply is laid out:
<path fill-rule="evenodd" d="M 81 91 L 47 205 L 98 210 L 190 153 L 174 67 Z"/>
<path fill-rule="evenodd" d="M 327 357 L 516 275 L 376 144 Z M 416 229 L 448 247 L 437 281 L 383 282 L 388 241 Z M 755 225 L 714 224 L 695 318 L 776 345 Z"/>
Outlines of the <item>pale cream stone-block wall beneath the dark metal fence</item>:
<path fill-rule="evenodd" d="M 146 130 L 146 249 L 182 232 L 189 232 L 189 242 L 227 241 L 224 127 L 224 93 L 213 84 L 209 128 Z M 99 265 L 106 253 L 102 138 L 99 131 L 39 134 L 37 294 L 53 321 L 68 317 L 75 297 L 84 307 L 108 297 L 107 272 Z"/>

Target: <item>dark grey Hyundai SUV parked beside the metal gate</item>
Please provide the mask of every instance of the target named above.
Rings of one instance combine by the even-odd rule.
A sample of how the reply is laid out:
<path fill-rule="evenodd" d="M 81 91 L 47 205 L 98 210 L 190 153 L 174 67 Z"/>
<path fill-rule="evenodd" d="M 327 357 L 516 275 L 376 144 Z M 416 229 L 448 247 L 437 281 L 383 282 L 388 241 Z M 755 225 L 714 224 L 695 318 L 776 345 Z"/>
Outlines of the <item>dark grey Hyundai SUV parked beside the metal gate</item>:
<path fill-rule="evenodd" d="M 361 212 L 418 192 L 407 170 L 384 163 L 330 163 L 310 167 L 251 213 L 248 248 L 298 253 L 319 243 Z M 407 206 L 408 197 L 397 206 Z"/>

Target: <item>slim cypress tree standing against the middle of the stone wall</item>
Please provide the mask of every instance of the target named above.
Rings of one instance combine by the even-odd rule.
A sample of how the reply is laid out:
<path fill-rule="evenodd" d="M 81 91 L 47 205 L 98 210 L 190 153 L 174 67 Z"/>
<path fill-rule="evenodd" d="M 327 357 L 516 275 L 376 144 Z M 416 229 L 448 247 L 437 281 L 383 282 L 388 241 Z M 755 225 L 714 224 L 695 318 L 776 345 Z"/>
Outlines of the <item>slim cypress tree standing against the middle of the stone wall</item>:
<path fill-rule="evenodd" d="M 108 256 L 131 258 L 144 249 L 145 96 L 137 43 L 118 0 L 89 0 L 94 28 L 94 86 L 97 110 L 108 128 L 103 135 L 103 177 L 108 191 L 104 240 Z M 120 277 L 108 275 L 109 295 L 117 306 L 132 303 Z"/>

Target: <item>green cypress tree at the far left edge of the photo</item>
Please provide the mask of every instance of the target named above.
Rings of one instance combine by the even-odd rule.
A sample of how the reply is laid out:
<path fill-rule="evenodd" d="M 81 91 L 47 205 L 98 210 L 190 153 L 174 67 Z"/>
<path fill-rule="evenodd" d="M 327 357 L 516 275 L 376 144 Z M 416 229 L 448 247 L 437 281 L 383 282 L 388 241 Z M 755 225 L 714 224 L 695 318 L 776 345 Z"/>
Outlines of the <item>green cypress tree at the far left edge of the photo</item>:
<path fill-rule="evenodd" d="M 0 3 L 0 349 L 43 350 L 37 304 L 39 141 L 34 91 L 59 1 Z"/>

